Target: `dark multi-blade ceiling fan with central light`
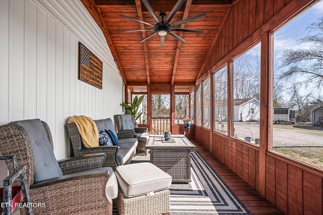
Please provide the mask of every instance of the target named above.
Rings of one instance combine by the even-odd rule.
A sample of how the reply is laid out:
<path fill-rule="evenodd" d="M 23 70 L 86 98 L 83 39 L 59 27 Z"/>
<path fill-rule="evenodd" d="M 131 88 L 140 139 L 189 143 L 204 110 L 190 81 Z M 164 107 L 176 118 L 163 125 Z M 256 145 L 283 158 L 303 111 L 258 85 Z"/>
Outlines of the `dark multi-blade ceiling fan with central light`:
<path fill-rule="evenodd" d="M 171 23 L 171 20 L 173 19 L 173 17 L 175 16 L 175 14 L 177 13 L 177 11 L 182 7 L 182 5 L 184 4 L 185 0 L 178 0 L 178 2 L 176 3 L 176 5 L 174 6 L 174 8 L 172 9 L 171 13 L 168 15 L 168 17 L 166 18 L 166 14 L 165 12 L 160 12 L 159 14 L 159 18 L 161 20 L 158 19 L 158 17 L 156 16 L 155 12 L 152 10 L 151 6 L 149 5 L 147 0 L 141 0 L 142 3 L 146 6 L 146 8 L 148 9 L 149 13 L 151 14 L 151 16 L 156 20 L 156 24 L 151 24 L 151 23 L 147 23 L 145 21 L 141 21 L 141 20 L 137 20 L 125 15 L 120 14 L 121 17 L 130 19 L 130 20 L 134 20 L 136 22 L 140 22 L 146 25 L 149 25 L 153 28 L 149 28 L 149 29 L 140 29 L 140 30 L 130 30 L 130 31 L 123 31 L 123 32 L 136 32 L 136 31 L 154 31 L 152 34 L 150 34 L 149 36 L 147 36 L 146 38 L 142 39 L 141 41 L 139 41 L 140 43 L 142 43 L 143 41 L 146 41 L 147 39 L 149 39 L 150 37 L 154 36 L 155 34 L 158 34 L 160 36 L 160 46 L 164 46 L 164 42 L 165 42 L 165 36 L 167 34 L 171 35 L 172 37 L 174 37 L 175 39 L 179 40 L 182 43 L 186 43 L 186 41 L 184 39 L 182 39 L 181 37 L 179 37 L 178 35 L 174 34 L 173 31 L 183 31 L 183 32 L 193 32 L 193 33 L 203 33 L 203 30 L 196 30 L 196 29 L 187 29 L 187 28 L 175 28 L 175 26 L 190 22 L 190 21 L 194 21 L 203 17 L 206 17 L 206 14 L 199 14 L 184 20 L 180 20 L 174 23 Z M 166 19 L 165 19 L 166 18 Z"/>

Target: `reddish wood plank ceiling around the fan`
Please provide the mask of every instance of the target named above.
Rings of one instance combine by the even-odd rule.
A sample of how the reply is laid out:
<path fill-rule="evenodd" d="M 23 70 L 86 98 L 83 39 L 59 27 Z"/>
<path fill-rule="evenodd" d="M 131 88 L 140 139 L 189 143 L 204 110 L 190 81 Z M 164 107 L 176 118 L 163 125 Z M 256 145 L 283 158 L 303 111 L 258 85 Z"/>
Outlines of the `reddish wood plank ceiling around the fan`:
<path fill-rule="evenodd" d="M 204 32 L 174 32 L 187 42 L 181 43 L 174 37 L 166 35 L 165 45 L 161 47 L 158 34 L 139 43 L 153 31 L 123 32 L 152 27 L 123 18 L 120 14 L 156 24 L 141 0 L 81 1 L 102 29 L 124 82 L 128 86 L 150 84 L 194 86 L 202 66 L 205 66 L 204 59 L 218 36 L 221 23 L 233 4 L 232 0 L 187 0 L 171 23 L 206 13 L 204 18 L 177 26 L 200 29 Z M 157 17 L 160 12 L 165 12 L 167 17 L 177 0 L 148 0 L 148 3 Z"/>

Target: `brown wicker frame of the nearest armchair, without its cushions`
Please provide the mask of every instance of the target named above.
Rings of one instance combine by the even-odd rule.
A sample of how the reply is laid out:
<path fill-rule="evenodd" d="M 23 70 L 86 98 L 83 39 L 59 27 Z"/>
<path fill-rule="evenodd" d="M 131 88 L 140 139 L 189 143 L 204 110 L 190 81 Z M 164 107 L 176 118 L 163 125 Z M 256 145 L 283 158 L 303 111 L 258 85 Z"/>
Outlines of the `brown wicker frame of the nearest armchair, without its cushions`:
<path fill-rule="evenodd" d="M 48 125 L 43 121 L 41 123 L 53 147 Z M 33 214 L 112 214 L 112 200 L 102 189 L 108 183 L 108 171 L 91 171 L 102 166 L 105 154 L 58 161 L 63 176 L 34 182 L 33 150 L 31 140 L 23 127 L 13 122 L 0 126 L 1 153 L 4 156 L 16 156 L 17 166 L 26 166 L 30 202 L 41 203 L 40 206 L 32 207 Z M 6 160 L 6 164 L 10 173 L 13 173 L 12 160 Z M 23 207 L 20 208 L 22 214 L 24 210 Z"/>

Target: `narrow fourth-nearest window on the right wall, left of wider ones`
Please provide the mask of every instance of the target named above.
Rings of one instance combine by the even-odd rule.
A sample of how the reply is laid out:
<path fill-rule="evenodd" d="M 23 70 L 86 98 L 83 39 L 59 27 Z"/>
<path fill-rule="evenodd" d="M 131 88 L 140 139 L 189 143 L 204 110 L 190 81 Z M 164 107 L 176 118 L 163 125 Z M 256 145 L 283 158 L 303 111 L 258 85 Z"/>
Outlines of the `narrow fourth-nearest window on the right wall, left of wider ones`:
<path fill-rule="evenodd" d="M 210 77 L 203 81 L 203 127 L 210 128 L 211 82 Z"/>

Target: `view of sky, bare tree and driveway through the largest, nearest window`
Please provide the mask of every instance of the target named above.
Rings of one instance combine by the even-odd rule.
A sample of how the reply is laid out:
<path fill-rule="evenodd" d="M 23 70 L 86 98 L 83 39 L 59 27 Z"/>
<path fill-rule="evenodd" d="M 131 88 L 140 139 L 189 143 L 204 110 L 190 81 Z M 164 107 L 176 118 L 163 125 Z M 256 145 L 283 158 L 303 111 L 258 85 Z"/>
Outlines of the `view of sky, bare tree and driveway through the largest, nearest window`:
<path fill-rule="evenodd" d="M 274 33 L 273 150 L 323 168 L 323 3 Z"/>

